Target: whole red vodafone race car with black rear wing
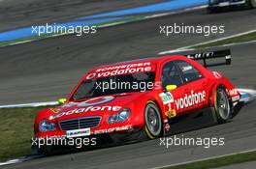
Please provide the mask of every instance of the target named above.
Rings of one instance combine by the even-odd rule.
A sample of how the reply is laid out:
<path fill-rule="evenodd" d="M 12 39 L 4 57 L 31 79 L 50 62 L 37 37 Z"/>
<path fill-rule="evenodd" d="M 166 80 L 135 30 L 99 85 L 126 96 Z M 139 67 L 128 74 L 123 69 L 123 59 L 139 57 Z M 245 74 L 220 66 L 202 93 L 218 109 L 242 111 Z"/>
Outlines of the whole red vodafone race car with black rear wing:
<path fill-rule="evenodd" d="M 225 62 L 208 65 L 214 59 Z M 219 72 L 206 69 L 223 64 L 231 64 L 230 50 L 146 58 L 90 70 L 70 97 L 60 100 L 62 105 L 38 113 L 34 140 L 97 137 L 115 142 L 132 135 L 153 139 L 172 130 L 172 120 L 208 108 L 219 123 L 225 123 L 234 117 L 240 93 Z"/>

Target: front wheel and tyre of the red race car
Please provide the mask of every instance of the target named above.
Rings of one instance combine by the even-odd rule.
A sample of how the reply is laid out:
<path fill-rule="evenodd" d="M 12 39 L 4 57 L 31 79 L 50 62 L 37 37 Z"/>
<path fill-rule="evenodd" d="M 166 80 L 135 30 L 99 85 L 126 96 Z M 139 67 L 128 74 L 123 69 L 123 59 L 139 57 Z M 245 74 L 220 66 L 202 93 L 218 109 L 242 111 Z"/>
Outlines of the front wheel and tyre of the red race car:
<path fill-rule="evenodd" d="M 144 132 L 149 139 L 161 136 L 163 123 L 160 110 L 153 101 L 147 101 L 144 109 Z"/>

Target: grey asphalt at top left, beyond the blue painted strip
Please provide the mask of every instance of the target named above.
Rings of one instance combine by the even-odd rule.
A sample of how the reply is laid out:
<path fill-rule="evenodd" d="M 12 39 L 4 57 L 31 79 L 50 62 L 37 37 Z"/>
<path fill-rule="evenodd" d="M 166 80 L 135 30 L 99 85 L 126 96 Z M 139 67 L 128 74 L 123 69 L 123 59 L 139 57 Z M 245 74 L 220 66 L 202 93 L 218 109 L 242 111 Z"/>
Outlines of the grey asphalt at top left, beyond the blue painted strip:
<path fill-rule="evenodd" d="M 84 15 L 122 10 L 163 0 L 0 0 L 0 31 L 70 21 Z"/>

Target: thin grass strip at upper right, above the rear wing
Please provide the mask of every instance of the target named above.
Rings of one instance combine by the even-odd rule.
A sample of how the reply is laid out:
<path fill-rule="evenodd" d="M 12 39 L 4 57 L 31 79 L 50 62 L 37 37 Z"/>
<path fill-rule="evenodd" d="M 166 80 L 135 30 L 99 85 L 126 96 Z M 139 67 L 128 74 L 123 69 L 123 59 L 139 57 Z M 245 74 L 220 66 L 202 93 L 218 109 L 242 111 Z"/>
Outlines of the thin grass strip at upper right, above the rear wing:
<path fill-rule="evenodd" d="M 192 46 L 192 48 L 205 48 L 205 47 L 230 44 L 230 43 L 234 43 L 234 42 L 251 42 L 251 41 L 256 41 L 256 32 L 238 36 L 238 37 L 234 37 L 234 38 L 230 38 L 230 39 L 226 39 L 226 40 L 217 41 L 217 42 L 209 42 L 209 43 L 202 44 L 202 45 L 196 45 L 196 46 Z"/>

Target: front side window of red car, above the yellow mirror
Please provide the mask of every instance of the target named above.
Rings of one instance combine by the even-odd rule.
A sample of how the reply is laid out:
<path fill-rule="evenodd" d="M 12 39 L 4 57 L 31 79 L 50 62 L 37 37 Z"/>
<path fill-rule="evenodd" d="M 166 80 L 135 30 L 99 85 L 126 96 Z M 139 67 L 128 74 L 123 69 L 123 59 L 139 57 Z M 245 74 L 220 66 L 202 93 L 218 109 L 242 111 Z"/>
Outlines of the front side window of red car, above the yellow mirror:
<path fill-rule="evenodd" d="M 182 78 L 174 62 L 169 62 L 164 65 L 161 74 L 161 82 L 163 88 L 165 88 L 167 85 L 180 86 L 183 84 Z"/>

